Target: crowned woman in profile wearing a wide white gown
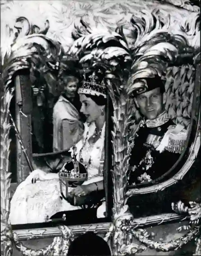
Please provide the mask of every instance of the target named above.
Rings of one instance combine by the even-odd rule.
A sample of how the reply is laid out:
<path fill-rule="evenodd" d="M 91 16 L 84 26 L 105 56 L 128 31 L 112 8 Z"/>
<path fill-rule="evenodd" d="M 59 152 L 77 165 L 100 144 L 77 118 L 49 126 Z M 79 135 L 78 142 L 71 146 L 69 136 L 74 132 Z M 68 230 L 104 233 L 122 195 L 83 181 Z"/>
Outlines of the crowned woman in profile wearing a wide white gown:
<path fill-rule="evenodd" d="M 80 111 L 85 114 L 87 120 L 81 140 L 70 151 L 72 157 L 76 157 L 77 161 L 85 165 L 88 179 L 81 186 L 69 188 L 68 199 L 69 202 L 74 201 L 74 204 L 62 200 L 58 173 L 36 169 L 21 182 L 12 197 L 10 207 L 12 224 L 45 222 L 47 217 L 55 213 L 81 209 L 80 204 L 75 203 L 75 198 L 84 198 L 97 190 L 104 191 L 102 163 L 104 162 L 106 88 L 98 79 L 98 76 L 90 74 L 85 77 L 78 89 L 82 104 Z M 97 216 L 104 217 L 104 212 L 103 203 L 97 210 Z"/>

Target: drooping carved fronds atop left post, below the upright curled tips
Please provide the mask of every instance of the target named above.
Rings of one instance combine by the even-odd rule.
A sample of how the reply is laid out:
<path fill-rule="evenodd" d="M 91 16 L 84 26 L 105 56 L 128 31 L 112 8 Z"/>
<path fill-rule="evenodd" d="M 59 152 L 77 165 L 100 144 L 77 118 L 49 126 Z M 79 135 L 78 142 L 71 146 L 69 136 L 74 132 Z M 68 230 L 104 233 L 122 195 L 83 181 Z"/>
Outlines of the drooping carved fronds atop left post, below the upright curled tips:
<path fill-rule="evenodd" d="M 33 34 L 20 38 L 12 45 L 10 56 L 4 58 L 3 84 L 9 86 L 17 71 L 29 69 L 32 82 L 38 82 L 36 77 L 41 77 L 42 80 L 47 78 L 47 85 L 52 91 L 59 71 L 57 63 L 60 63 L 63 54 L 61 44 L 43 34 Z M 53 74 L 55 74 L 54 77 Z"/>

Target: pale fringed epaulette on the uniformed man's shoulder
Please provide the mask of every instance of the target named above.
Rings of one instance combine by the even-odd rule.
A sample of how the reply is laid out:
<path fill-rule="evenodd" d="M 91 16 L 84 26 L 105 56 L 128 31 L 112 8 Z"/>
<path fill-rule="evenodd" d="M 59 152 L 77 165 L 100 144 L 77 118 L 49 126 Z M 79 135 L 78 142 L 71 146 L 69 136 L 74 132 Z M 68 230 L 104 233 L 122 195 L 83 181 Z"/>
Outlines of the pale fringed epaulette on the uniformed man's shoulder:
<path fill-rule="evenodd" d="M 187 130 L 182 125 L 171 125 L 168 127 L 157 151 L 163 152 L 167 150 L 173 153 L 181 153 L 184 149 L 187 138 Z"/>

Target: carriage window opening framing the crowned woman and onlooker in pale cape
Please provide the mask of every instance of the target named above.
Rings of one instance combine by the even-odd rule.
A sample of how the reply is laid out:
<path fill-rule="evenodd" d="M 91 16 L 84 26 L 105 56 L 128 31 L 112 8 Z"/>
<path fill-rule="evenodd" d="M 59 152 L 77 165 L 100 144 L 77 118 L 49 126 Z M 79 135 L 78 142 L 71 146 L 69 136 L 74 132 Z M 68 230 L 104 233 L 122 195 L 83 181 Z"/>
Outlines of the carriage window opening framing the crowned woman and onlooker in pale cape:
<path fill-rule="evenodd" d="M 26 125 L 21 130 L 33 127 L 29 133 L 34 152 L 30 163 L 33 171 L 12 197 L 12 224 L 63 220 L 69 214 L 72 221 L 83 209 L 81 222 L 87 221 L 88 217 L 91 220 L 107 216 L 103 176 L 106 175 L 105 153 L 108 154 L 105 152 L 105 137 L 109 134 L 106 127 L 112 116 L 107 112 L 112 109 L 103 84 L 101 92 L 97 83 L 86 93 L 94 72 L 85 76 L 84 82 L 75 76 L 64 77 L 63 90 L 52 99 L 48 98 L 48 93 L 45 96 L 45 85 L 41 93 L 32 86 L 32 93 L 28 94 L 23 88 L 27 83 L 20 84 L 24 105 L 20 109 L 23 119 L 19 126 Z M 27 75 L 19 75 L 23 76 L 28 79 Z M 20 80 L 23 78 L 18 82 Z M 32 100 L 31 105 L 23 99 L 25 95 Z M 48 105 L 50 100 L 51 105 Z M 31 122 L 26 122 L 26 118 Z M 22 143 L 27 139 L 24 135 L 20 134 Z M 28 197 L 30 207 L 25 205 L 22 211 L 17 211 L 22 200 Z M 76 212 L 72 213 L 74 210 Z M 33 211 L 38 214 L 32 214 Z"/>

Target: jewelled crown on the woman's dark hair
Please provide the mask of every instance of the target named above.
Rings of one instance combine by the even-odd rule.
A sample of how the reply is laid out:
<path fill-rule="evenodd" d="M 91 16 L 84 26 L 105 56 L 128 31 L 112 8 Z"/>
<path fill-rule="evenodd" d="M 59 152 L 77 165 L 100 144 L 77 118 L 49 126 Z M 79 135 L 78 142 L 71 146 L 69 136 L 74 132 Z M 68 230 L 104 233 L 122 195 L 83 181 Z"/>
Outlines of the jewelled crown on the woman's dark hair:
<path fill-rule="evenodd" d="M 100 74 L 100 73 L 98 73 Z M 83 75 L 83 82 L 81 87 L 78 89 L 78 93 L 96 95 L 106 98 L 106 87 L 104 83 L 103 76 L 99 76 L 95 71 L 86 76 L 86 73 Z"/>

